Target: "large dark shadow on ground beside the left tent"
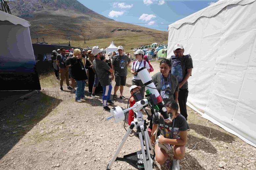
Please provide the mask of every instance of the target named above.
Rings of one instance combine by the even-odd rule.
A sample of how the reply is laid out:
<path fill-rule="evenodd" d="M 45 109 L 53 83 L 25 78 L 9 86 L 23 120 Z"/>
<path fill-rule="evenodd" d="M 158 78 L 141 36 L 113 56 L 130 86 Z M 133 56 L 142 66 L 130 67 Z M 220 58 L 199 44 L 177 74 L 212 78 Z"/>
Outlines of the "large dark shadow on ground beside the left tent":
<path fill-rule="evenodd" d="M 18 100 L 1 110 L 0 158 L 6 155 L 27 132 L 45 118 L 61 101 L 39 92 L 27 100 Z"/>

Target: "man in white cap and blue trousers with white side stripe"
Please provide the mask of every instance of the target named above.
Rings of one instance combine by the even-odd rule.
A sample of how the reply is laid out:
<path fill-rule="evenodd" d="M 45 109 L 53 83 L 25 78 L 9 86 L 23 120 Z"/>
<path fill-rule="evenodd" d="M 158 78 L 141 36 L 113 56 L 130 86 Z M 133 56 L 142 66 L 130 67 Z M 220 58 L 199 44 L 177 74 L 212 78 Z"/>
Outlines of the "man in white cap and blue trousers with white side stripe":
<path fill-rule="evenodd" d="M 95 58 L 93 61 L 93 68 L 95 69 L 97 76 L 99 78 L 100 84 L 103 88 L 103 94 L 102 94 L 102 103 L 103 103 L 103 109 L 106 111 L 110 111 L 110 108 L 107 106 L 109 104 L 114 104 L 110 100 L 112 85 L 110 83 L 108 72 L 113 73 L 113 69 L 108 66 L 108 64 L 101 60 L 101 58 L 105 58 L 102 54 L 103 48 L 100 49 L 98 46 L 94 46 L 92 48 L 92 54 Z"/>

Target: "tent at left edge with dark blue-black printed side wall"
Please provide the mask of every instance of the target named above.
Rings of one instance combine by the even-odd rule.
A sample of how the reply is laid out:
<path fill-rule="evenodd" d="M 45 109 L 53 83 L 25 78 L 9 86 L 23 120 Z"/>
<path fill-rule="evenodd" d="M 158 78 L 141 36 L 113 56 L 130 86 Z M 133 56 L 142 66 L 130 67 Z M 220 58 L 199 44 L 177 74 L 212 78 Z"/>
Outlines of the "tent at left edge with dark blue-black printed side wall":
<path fill-rule="evenodd" d="M 0 72 L 9 76 L 7 81 L 0 74 L 1 81 L 4 81 L 2 89 L 40 89 L 29 26 L 28 21 L 0 11 Z M 15 85 L 15 81 L 20 85 Z"/>

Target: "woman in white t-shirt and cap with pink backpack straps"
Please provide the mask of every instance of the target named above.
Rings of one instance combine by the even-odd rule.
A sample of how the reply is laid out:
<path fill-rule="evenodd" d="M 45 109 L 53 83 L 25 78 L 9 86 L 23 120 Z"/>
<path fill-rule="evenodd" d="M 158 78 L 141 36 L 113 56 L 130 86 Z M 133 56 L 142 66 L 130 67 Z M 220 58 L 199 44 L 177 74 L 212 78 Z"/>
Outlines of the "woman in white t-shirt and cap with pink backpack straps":
<path fill-rule="evenodd" d="M 137 85 L 137 86 L 144 86 L 141 79 L 139 78 L 137 71 L 140 68 L 145 67 L 147 69 L 147 71 L 149 72 L 149 64 L 143 60 L 144 58 L 144 51 L 139 49 L 137 50 L 135 53 L 135 57 L 136 60 L 132 63 L 132 67 L 131 67 L 131 73 L 133 74 L 133 78 L 132 78 L 132 85 Z M 145 92 L 145 87 L 142 88 L 141 94 L 144 96 L 144 92 Z"/>

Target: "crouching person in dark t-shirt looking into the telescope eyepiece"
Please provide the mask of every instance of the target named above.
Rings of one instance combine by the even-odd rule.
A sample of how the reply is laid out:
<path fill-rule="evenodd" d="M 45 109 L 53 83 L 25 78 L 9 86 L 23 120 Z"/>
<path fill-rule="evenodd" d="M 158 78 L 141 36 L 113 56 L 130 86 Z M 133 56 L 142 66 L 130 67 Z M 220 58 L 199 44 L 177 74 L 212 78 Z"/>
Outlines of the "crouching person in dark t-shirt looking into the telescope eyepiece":
<path fill-rule="evenodd" d="M 168 153 L 166 148 L 162 147 L 169 144 L 173 146 L 174 157 L 172 170 L 179 170 L 179 160 L 185 157 L 185 145 L 187 143 L 187 130 L 189 129 L 188 123 L 184 116 L 178 113 L 178 104 L 174 100 L 169 100 L 166 103 L 167 112 L 172 117 L 172 123 L 165 123 L 162 115 L 158 113 L 153 116 L 153 129 L 152 132 L 158 128 L 159 136 L 156 140 L 155 135 L 150 137 L 151 143 L 155 144 L 155 159 L 159 164 L 163 164 L 167 158 Z M 157 120 L 159 118 L 159 120 Z M 156 142 L 155 142 L 156 141 Z M 160 149 L 160 147 L 161 149 Z M 168 151 L 168 150 L 167 150 Z"/>

